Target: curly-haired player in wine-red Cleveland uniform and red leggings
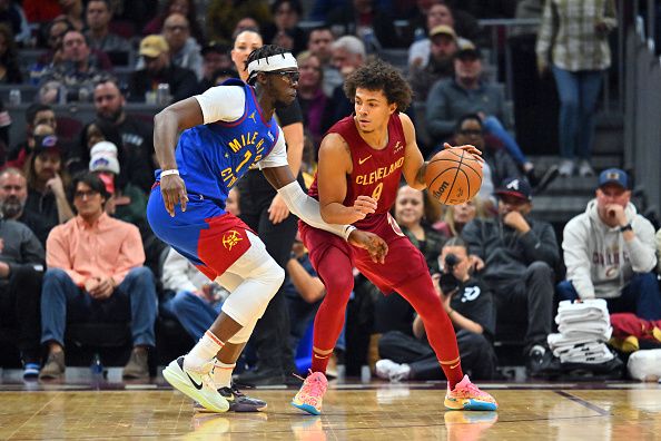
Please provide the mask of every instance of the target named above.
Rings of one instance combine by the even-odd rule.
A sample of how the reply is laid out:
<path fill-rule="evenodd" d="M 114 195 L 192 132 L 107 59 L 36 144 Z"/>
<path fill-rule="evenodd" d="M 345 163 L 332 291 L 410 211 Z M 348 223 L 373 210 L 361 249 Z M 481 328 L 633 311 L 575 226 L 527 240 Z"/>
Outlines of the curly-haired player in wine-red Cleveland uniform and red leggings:
<path fill-rule="evenodd" d="M 384 293 L 399 293 L 422 317 L 447 378 L 445 405 L 495 410 L 495 400 L 464 376 L 454 329 L 434 291 L 425 258 L 388 213 L 402 175 L 411 187 L 426 187 L 426 165 L 415 141 L 415 129 L 408 116 L 399 112 L 411 102 L 411 88 L 395 68 L 377 60 L 352 74 L 344 90 L 355 102 L 354 115 L 336 122 L 322 140 L 317 176 L 308 194 L 319 200 L 324 220 L 351 224 L 381 236 L 388 244 L 388 254 L 385 263 L 374 263 L 363 249 L 299 223 L 310 261 L 326 286 L 326 296 L 314 324 L 312 373 L 292 404 L 320 413 L 327 388 L 324 373 L 344 324 L 355 266 Z M 457 148 L 480 158 L 480 150 L 473 146 Z M 358 200 L 374 204 L 374 213 L 365 216 L 356 210 Z"/>

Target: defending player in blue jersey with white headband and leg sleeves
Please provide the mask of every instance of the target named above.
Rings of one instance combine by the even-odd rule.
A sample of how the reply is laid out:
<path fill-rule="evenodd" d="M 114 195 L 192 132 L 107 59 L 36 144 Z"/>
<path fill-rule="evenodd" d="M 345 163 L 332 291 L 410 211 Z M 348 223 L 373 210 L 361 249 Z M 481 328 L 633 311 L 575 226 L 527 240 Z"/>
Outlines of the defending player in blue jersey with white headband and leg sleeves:
<path fill-rule="evenodd" d="M 374 234 L 326 224 L 317 200 L 303 192 L 289 170 L 273 115 L 296 97 L 296 59 L 282 48 L 264 46 L 246 63 L 248 84 L 228 80 L 155 117 L 154 146 L 162 168 L 147 206 L 149 224 L 160 239 L 231 293 L 195 347 L 162 372 L 174 388 L 211 412 L 266 409 L 264 401 L 230 384 L 236 360 L 285 277 L 262 241 L 225 210 L 229 189 L 251 165 L 306 224 L 367 249 L 375 262 L 383 262 L 387 253 L 385 242 Z M 354 205 L 363 217 L 375 208 L 371 198 Z"/>

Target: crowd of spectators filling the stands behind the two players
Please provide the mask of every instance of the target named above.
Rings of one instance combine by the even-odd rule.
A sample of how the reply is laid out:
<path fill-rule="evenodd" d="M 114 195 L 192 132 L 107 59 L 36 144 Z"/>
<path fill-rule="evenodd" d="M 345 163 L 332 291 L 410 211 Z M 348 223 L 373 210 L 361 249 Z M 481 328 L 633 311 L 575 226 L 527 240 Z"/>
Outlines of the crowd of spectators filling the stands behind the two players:
<path fill-rule="evenodd" d="M 589 11 L 581 22 L 563 9 L 571 2 L 489 3 L 0 2 L 0 97 L 6 100 L 19 85 L 34 90 L 34 101 L 20 115 L 23 139 L 9 138 L 11 118 L 0 109 L 0 327 L 13 330 L 26 378 L 63 375 L 71 323 L 130 323 L 132 351 L 124 375 L 147 379 L 159 314 L 178 321 L 193 339 L 213 322 L 229 293 L 160 243 L 145 218 L 158 168 L 151 117 L 228 78 L 245 80 L 244 60 L 265 43 L 297 57 L 298 102 L 278 110 L 278 118 L 289 154 L 304 150 L 303 161 L 290 163 L 302 163 L 300 179 L 308 184 L 323 135 L 353 111 L 344 79 L 388 51 L 404 55 L 397 67 L 415 92 L 411 116 L 428 133 L 420 140 L 423 155 L 432 157 L 444 141 L 483 151 L 484 182 L 473 200 L 444 207 L 403 186 L 393 209 L 427 261 L 473 378 L 496 378 L 497 324 L 509 321 L 520 325 L 529 374 L 552 372 L 546 339 L 559 300 L 606 298 L 612 312 L 661 320 L 661 231 L 654 237 L 651 223 L 637 213 L 631 176 L 612 168 L 596 179 L 590 161 L 599 88 L 610 66 L 608 33 L 618 26 L 613 2 L 576 2 Z M 480 47 L 487 36 L 477 20 L 514 17 L 522 3 L 542 19 L 537 67 L 553 74 L 562 104 L 560 167 L 543 176 L 527 156 L 534 147 L 517 143 L 504 87 Z M 71 104 L 93 107 L 93 120 L 71 126 L 62 111 Z M 135 104 L 154 112 L 134 115 Z M 16 120 L 17 102 L 4 107 Z M 562 246 L 533 209 L 534 195 L 558 173 L 595 180 L 585 213 L 566 219 Z M 253 356 L 246 363 L 268 374 L 244 380 L 274 383 L 295 369 L 296 346 L 325 291 L 295 238 L 294 216 L 275 192 L 265 190 L 265 180 L 246 180 L 231 192 L 228 210 L 260 237 L 274 235 L 264 241 L 267 248 L 275 244 L 269 252 L 278 254 L 288 278 L 247 351 Z M 336 362 L 355 357 L 391 381 L 442 378 L 414 311 L 397 293 L 382 296 L 361 274 L 355 277 Z M 267 366 L 275 359 L 277 366 Z"/>

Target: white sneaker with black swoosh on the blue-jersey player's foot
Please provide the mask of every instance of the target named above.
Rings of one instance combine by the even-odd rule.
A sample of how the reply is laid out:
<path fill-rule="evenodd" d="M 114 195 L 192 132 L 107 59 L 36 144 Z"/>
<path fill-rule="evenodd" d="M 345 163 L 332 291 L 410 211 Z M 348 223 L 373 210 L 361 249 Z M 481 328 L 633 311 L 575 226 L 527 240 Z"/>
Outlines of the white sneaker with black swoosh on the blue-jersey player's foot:
<path fill-rule="evenodd" d="M 180 356 L 162 370 L 162 376 L 172 388 L 199 402 L 209 411 L 227 412 L 229 402 L 216 391 L 210 376 L 213 366 L 214 363 L 210 362 L 203 367 L 203 372 L 194 372 L 184 367 L 184 356 Z"/>

